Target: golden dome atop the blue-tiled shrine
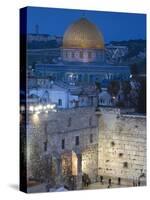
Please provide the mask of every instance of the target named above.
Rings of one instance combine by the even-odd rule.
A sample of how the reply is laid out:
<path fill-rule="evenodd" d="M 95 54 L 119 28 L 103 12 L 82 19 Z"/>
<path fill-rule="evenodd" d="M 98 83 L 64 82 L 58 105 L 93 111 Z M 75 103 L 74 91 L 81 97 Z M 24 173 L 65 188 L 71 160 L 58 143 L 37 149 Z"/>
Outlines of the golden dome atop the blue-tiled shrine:
<path fill-rule="evenodd" d="M 103 35 L 93 23 L 86 18 L 81 18 L 66 30 L 63 48 L 103 49 Z"/>

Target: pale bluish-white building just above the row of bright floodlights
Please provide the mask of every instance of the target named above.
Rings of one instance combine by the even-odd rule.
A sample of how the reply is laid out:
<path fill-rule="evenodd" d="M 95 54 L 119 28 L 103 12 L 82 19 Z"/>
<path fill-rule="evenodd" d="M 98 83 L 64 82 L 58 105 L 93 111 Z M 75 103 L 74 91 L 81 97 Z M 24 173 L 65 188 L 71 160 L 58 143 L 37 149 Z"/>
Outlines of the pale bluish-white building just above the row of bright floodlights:
<path fill-rule="evenodd" d="M 94 85 L 83 89 L 80 86 L 68 86 L 42 77 L 29 79 L 27 98 L 29 104 L 54 103 L 57 108 L 96 106 L 97 97 Z"/>

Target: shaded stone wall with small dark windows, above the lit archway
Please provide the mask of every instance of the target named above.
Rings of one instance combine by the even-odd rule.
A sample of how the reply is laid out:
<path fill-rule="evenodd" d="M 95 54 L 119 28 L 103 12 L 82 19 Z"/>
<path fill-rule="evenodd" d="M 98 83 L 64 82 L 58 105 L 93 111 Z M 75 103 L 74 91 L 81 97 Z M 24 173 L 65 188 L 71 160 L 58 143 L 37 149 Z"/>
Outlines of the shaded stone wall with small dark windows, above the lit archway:
<path fill-rule="evenodd" d="M 40 165 L 45 155 L 58 157 L 61 160 L 63 154 L 73 152 L 77 158 L 81 155 L 82 172 L 87 173 L 91 181 L 95 180 L 98 171 L 98 118 L 94 108 L 32 114 L 28 119 L 27 133 L 28 174 L 30 176 L 34 174 L 34 165 Z M 79 144 L 76 144 L 77 136 Z M 63 140 L 65 141 L 64 148 L 62 148 Z M 38 155 L 35 156 L 37 146 L 39 147 Z M 35 159 L 38 159 L 36 164 L 33 163 Z"/>

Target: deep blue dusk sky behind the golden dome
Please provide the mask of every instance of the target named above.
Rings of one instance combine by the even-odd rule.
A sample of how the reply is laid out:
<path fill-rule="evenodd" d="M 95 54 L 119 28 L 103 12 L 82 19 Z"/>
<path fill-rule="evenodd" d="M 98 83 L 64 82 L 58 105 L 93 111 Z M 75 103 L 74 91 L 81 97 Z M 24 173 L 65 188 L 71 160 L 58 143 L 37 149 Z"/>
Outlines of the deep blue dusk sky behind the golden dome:
<path fill-rule="evenodd" d="M 63 36 L 67 27 L 83 16 L 101 30 L 105 43 L 146 38 L 145 14 L 38 7 L 28 7 L 28 33 L 35 33 L 35 25 L 38 24 L 39 33 Z"/>

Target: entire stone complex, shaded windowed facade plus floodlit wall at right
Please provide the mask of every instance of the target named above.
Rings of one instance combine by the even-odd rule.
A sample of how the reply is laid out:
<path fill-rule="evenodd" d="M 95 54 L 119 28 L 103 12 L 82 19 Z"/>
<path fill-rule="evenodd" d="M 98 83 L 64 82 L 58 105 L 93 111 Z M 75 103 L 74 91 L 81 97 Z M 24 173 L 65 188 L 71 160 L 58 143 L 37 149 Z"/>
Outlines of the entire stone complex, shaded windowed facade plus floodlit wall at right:
<path fill-rule="evenodd" d="M 146 118 L 131 110 L 94 107 L 32 114 L 27 126 L 28 179 L 83 189 L 90 183 L 120 179 L 146 184 Z M 129 114 L 130 113 L 130 114 Z"/>

